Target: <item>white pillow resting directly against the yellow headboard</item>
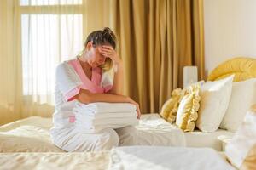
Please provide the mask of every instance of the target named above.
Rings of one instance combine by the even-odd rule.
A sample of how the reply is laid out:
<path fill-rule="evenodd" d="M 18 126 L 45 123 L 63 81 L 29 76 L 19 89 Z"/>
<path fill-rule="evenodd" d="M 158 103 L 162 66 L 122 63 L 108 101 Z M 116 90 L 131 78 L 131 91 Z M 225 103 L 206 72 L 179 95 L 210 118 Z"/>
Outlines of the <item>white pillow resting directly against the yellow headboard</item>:
<path fill-rule="evenodd" d="M 230 105 L 220 127 L 231 132 L 241 125 L 249 108 L 256 103 L 256 78 L 232 83 Z"/>

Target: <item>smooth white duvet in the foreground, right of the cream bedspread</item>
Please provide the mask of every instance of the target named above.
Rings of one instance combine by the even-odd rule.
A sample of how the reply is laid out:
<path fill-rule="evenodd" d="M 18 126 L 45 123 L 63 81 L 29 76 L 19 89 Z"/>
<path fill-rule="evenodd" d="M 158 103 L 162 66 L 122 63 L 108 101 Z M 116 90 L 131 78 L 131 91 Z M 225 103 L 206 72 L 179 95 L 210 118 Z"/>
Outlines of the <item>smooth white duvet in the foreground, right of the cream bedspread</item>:
<path fill-rule="evenodd" d="M 163 146 L 127 146 L 111 150 L 110 170 L 231 170 L 216 150 Z"/>

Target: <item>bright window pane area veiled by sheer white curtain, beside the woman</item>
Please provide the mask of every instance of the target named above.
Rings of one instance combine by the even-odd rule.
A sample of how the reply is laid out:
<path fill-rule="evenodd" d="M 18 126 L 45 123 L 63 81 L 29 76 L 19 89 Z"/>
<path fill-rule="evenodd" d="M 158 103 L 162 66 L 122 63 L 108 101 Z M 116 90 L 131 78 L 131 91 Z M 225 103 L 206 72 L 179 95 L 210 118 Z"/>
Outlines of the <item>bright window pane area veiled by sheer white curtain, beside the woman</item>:
<path fill-rule="evenodd" d="M 55 67 L 83 48 L 82 0 L 20 0 L 22 113 L 53 112 Z"/>

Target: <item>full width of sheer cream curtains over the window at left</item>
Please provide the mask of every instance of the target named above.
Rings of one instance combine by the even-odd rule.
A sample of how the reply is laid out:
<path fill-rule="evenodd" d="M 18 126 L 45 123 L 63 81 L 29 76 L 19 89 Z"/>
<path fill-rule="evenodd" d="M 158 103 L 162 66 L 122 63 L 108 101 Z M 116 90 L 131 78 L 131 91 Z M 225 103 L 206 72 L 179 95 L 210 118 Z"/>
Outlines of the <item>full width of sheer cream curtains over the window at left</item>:
<path fill-rule="evenodd" d="M 84 1 L 3 0 L 0 123 L 54 111 L 55 67 L 83 49 Z"/>

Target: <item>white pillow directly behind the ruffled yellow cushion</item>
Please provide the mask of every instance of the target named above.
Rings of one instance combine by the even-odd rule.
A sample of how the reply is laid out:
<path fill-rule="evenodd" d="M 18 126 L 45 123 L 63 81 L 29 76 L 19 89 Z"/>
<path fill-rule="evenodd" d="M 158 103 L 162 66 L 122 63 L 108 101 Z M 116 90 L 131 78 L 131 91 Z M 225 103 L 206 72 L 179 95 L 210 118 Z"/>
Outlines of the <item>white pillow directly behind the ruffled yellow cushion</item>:
<path fill-rule="evenodd" d="M 201 131 L 214 132 L 218 129 L 230 102 L 233 78 L 234 75 L 206 82 L 201 87 L 200 108 L 195 122 Z"/>

